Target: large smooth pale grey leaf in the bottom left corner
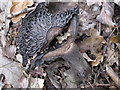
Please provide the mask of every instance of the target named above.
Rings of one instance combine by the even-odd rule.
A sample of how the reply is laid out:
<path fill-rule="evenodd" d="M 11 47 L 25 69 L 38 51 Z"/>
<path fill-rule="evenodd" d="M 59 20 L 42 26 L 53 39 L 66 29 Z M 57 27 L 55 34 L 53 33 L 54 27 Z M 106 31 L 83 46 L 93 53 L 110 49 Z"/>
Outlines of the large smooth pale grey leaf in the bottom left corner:
<path fill-rule="evenodd" d="M 20 64 L 1 56 L 0 57 L 0 73 L 3 73 L 6 80 L 14 87 L 19 87 L 19 79 L 23 76 Z"/>

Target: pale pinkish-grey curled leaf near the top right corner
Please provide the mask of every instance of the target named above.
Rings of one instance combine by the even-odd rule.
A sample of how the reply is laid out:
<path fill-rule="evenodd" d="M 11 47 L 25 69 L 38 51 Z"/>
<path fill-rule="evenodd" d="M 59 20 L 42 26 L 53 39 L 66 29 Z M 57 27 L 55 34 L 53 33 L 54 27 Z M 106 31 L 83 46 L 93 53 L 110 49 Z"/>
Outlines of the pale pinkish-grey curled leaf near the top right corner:
<path fill-rule="evenodd" d="M 103 24 L 107 24 L 114 27 L 115 23 L 112 20 L 114 15 L 114 4 L 109 2 L 103 2 L 101 14 L 97 16 L 97 20 Z"/>

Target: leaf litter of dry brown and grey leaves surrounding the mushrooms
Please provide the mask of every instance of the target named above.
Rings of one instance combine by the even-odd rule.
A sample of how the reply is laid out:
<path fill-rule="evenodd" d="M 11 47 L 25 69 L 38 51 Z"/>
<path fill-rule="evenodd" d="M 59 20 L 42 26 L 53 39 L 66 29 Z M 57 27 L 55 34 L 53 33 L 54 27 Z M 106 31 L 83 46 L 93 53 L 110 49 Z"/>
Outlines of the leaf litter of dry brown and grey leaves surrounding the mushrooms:
<path fill-rule="evenodd" d="M 38 3 L 40 1 L 37 1 Z M 9 4 L 11 3 L 11 4 Z M 77 76 L 78 72 L 70 64 L 59 59 L 56 62 L 37 67 L 29 74 L 22 66 L 22 56 L 19 54 L 15 42 L 18 28 L 26 13 L 20 13 L 28 6 L 35 4 L 34 1 L 23 0 L 9 3 L 0 2 L 0 88 L 115 88 L 120 86 L 120 9 L 117 1 L 96 1 L 90 3 L 79 2 L 84 13 L 79 18 L 79 38 L 75 41 L 79 51 L 90 64 L 92 74 L 88 80 Z M 8 5 L 6 8 L 5 6 Z M 17 7 L 20 8 L 17 8 Z M 117 6 L 117 8 L 115 8 Z M 34 7 L 34 5 L 33 5 Z M 6 13 L 6 9 L 8 12 Z M 32 10 L 32 9 L 31 9 Z M 8 19 L 9 15 L 19 15 Z M 7 22 L 9 21 L 9 22 Z M 17 24 L 18 23 L 18 24 Z M 13 27 L 15 27 L 13 29 Z M 11 35 L 11 36 L 9 36 Z M 58 43 L 62 43 L 69 37 L 69 33 L 58 36 Z M 79 79 L 80 80 L 79 80 Z M 85 82 L 86 81 L 86 82 Z"/>

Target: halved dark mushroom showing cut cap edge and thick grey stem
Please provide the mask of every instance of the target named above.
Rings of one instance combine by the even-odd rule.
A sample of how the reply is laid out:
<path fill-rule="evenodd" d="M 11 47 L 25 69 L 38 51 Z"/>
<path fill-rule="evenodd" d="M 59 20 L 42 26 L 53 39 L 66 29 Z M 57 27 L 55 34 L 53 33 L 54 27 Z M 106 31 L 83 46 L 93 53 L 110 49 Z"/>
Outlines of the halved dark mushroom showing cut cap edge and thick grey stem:
<path fill-rule="evenodd" d="M 34 61 L 31 68 L 36 66 L 39 66 L 45 62 L 52 62 L 56 60 L 57 58 L 63 58 L 65 61 L 69 62 L 71 67 L 75 68 L 76 72 L 78 72 L 78 75 L 80 77 L 88 77 L 88 75 L 91 72 L 91 69 L 88 65 L 88 63 L 85 61 L 83 56 L 80 53 L 79 47 L 74 43 L 76 39 L 76 30 L 77 30 L 77 16 L 74 16 L 71 20 L 68 32 L 70 33 L 70 37 L 66 41 L 66 43 L 61 47 L 54 51 L 50 51 L 47 54 L 45 54 L 42 58 L 42 60 L 36 59 Z M 35 67 L 36 67 L 35 66 Z"/>

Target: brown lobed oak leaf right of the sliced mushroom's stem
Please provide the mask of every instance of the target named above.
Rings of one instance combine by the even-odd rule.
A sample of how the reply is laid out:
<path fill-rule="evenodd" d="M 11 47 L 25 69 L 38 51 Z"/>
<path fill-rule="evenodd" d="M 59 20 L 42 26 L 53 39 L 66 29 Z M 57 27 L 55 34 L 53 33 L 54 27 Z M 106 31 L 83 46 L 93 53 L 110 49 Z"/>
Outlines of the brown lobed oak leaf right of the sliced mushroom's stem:
<path fill-rule="evenodd" d="M 91 54 L 96 56 L 96 59 L 92 60 L 87 56 L 87 54 L 83 54 L 83 57 L 91 62 L 92 66 L 97 66 L 103 62 L 103 55 L 101 54 L 103 43 L 106 43 L 106 41 L 104 40 L 103 36 L 100 35 L 100 32 L 98 32 L 96 29 L 90 29 L 90 37 L 82 42 L 82 46 L 84 46 L 82 49 L 86 48 L 86 50 L 88 50 L 89 47 Z"/>

